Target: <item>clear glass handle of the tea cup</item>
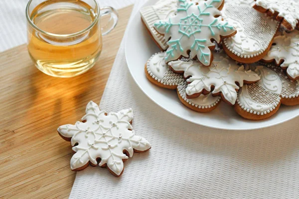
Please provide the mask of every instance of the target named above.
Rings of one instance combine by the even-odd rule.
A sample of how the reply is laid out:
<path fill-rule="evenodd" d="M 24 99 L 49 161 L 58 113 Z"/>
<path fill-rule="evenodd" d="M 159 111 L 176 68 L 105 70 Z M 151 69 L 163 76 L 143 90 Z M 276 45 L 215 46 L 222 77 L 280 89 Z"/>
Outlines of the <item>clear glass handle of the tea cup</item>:
<path fill-rule="evenodd" d="M 107 14 L 110 14 L 109 21 L 101 26 L 102 35 L 108 34 L 113 28 L 115 28 L 117 22 L 118 22 L 118 13 L 116 9 L 114 9 L 111 6 L 104 6 L 100 8 L 100 16 L 105 16 Z"/>

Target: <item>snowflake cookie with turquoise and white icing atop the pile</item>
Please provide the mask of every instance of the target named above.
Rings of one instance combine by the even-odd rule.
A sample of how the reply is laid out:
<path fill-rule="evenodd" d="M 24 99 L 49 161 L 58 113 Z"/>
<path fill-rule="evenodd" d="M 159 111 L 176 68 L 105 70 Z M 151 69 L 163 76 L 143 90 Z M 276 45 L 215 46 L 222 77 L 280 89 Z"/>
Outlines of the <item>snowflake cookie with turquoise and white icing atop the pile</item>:
<path fill-rule="evenodd" d="M 179 0 L 176 15 L 154 23 L 154 28 L 164 34 L 169 47 L 166 50 L 166 63 L 186 58 L 197 58 L 205 66 L 213 60 L 211 49 L 223 37 L 236 34 L 234 27 L 223 21 L 221 12 L 224 0 L 206 0 L 198 3 Z M 216 17 L 215 17 L 216 16 Z"/>

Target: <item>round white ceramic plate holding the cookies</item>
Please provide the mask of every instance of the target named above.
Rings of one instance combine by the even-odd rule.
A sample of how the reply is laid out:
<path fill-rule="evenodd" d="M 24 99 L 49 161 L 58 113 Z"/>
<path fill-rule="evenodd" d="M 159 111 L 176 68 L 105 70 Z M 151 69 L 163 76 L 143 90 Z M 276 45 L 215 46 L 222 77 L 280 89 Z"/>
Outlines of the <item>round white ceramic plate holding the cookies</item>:
<path fill-rule="evenodd" d="M 157 0 L 148 0 L 144 6 L 151 5 Z M 234 109 L 224 103 L 208 113 L 198 113 L 185 107 L 177 97 L 176 91 L 159 88 L 149 82 L 145 75 L 145 64 L 150 56 L 159 52 L 149 33 L 141 21 L 138 12 L 129 24 L 126 34 L 125 53 L 131 75 L 140 89 L 156 104 L 168 112 L 187 121 L 219 129 L 249 130 L 259 129 L 283 123 L 299 116 L 299 105 L 282 105 L 272 117 L 251 121 L 243 119 Z"/>

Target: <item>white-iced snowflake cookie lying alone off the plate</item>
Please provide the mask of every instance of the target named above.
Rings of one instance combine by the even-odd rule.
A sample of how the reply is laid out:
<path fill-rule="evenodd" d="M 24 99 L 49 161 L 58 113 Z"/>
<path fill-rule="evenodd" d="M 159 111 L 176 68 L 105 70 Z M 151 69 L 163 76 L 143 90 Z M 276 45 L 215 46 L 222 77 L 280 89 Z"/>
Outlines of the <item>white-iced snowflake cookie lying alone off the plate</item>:
<path fill-rule="evenodd" d="M 107 167 L 117 177 L 122 175 L 125 160 L 134 152 L 146 152 L 151 147 L 145 138 L 136 135 L 132 119 L 132 108 L 107 113 L 90 101 L 82 122 L 57 129 L 63 139 L 71 141 L 76 152 L 71 158 L 71 169 L 80 171 L 91 164 Z"/>

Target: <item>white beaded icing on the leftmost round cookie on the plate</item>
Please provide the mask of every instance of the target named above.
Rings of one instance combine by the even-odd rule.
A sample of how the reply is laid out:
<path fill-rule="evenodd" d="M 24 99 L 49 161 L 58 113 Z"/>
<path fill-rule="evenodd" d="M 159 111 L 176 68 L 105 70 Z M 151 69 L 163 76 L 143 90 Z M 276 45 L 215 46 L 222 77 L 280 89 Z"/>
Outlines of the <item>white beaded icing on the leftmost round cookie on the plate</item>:
<path fill-rule="evenodd" d="M 147 62 L 147 71 L 154 80 L 163 85 L 178 85 L 184 79 L 181 75 L 175 74 L 169 69 L 165 63 L 164 55 L 164 52 L 152 55 Z"/>

